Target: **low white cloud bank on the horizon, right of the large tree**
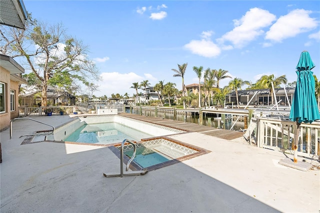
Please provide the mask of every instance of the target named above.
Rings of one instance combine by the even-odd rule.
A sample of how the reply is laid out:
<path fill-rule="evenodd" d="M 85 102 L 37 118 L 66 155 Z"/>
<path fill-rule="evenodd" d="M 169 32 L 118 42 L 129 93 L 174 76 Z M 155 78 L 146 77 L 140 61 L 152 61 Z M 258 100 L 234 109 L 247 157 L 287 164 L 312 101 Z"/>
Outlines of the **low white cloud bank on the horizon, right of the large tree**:
<path fill-rule="evenodd" d="M 99 82 L 99 91 L 94 92 L 94 95 L 98 97 L 102 95 L 110 97 L 112 93 L 123 95 L 125 92 L 132 96 L 135 93 L 135 89 L 130 88 L 133 82 L 140 83 L 143 80 L 149 80 L 151 85 L 157 82 L 156 78 L 149 73 L 144 73 L 144 76 L 140 76 L 134 72 L 102 72 L 100 76 L 102 81 Z"/>

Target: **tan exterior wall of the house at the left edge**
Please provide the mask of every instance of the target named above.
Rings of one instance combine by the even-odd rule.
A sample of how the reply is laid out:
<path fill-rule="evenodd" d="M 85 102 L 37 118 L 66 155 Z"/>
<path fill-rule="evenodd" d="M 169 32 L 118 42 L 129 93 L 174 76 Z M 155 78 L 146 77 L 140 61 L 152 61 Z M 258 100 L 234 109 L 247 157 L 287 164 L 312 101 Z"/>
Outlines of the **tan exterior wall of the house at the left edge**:
<path fill-rule="evenodd" d="M 0 82 L 4 83 L 5 109 L 0 112 L 0 130 L 10 125 L 10 120 L 18 117 L 18 82 L 10 79 L 10 72 L 0 66 Z M 14 109 L 10 110 L 10 90 L 14 90 Z"/>

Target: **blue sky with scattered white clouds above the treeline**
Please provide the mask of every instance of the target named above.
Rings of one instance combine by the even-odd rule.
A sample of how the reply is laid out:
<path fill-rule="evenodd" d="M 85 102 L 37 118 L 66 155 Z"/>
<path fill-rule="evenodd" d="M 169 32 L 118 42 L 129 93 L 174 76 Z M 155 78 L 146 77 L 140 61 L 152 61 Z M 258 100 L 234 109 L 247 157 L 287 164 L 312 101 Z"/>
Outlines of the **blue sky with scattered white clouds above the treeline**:
<path fill-rule="evenodd" d="M 89 47 L 102 77 L 96 96 L 132 95 L 132 82 L 142 80 L 152 86 L 170 81 L 181 89 L 171 69 L 186 62 L 186 85 L 198 82 L 193 66 L 228 70 L 252 83 L 263 74 L 285 74 L 292 82 L 303 50 L 320 78 L 320 1 L 23 2 L 33 18 L 61 22 Z"/>

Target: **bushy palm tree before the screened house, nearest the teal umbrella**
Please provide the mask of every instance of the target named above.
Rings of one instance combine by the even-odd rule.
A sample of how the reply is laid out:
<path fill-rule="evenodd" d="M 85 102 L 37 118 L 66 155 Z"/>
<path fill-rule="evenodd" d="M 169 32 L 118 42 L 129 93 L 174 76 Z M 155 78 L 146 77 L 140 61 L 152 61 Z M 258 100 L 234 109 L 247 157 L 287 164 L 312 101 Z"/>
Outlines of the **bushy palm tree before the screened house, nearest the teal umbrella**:
<path fill-rule="evenodd" d="M 274 77 L 273 74 L 270 75 L 263 75 L 260 79 L 256 81 L 256 84 L 258 84 L 261 88 L 268 88 L 271 93 L 271 104 L 275 103 L 275 100 L 273 101 L 273 89 L 272 89 L 272 83 L 273 87 L 279 87 L 281 83 L 286 83 L 287 79 L 285 75 L 281 75 L 279 77 Z"/>

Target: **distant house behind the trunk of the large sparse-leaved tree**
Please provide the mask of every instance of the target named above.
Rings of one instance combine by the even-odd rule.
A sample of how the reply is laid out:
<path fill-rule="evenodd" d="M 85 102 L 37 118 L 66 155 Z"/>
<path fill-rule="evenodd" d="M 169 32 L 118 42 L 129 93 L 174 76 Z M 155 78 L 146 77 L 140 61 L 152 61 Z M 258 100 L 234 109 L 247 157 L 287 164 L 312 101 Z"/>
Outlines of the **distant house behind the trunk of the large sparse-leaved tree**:
<path fill-rule="evenodd" d="M 34 91 L 27 94 L 21 94 L 21 106 L 41 105 L 41 97 L 38 95 L 40 91 Z M 48 105 L 75 105 L 75 96 L 66 92 L 48 86 L 46 90 Z"/>

